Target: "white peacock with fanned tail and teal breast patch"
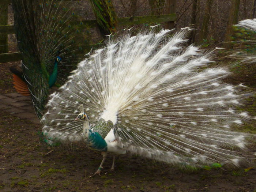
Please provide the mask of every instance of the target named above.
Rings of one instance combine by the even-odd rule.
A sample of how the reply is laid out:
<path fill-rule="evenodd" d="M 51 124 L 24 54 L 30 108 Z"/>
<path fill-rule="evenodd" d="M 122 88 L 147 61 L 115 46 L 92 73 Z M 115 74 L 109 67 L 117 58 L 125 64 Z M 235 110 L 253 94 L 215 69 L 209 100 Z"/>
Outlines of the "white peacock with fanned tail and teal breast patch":
<path fill-rule="evenodd" d="M 255 135 L 232 131 L 250 119 L 235 108 L 249 93 L 222 82 L 227 68 L 207 67 L 211 52 L 185 46 L 189 30 L 110 39 L 50 95 L 44 136 L 102 151 L 95 174 L 108 152 L 190 168 L 252 161 Z"/>

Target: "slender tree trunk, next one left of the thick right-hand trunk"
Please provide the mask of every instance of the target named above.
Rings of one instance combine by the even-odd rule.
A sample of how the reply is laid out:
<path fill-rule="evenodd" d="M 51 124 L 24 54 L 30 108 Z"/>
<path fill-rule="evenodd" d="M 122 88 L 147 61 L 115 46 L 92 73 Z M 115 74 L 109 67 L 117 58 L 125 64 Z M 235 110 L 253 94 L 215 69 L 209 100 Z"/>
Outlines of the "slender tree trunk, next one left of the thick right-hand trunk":
<path fill-rule="evenodd" d="M 208 25 L 209 25 L 209 20 L 211 17 L 212 3 L 213 3 L 213 0 L 207 0 L 207 2 L 206 2 L 206 6 L 204 9 L 202 31 L 201 31 L 201 39 L 207 39 L 207 37 L 208 37 Z"/>

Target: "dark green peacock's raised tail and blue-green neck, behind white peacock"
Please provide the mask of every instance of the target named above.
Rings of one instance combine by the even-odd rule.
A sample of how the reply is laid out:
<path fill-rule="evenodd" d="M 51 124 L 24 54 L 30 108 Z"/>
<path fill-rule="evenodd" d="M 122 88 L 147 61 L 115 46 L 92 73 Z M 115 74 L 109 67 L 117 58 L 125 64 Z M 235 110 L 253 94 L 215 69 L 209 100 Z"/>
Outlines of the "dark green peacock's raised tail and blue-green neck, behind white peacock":
<path fill-rule="evenodd" d="M 23 76 L 41 117 L 49 87 L 63 84 L 88 51 L 89 31 L 76 15 L 74 1 L 13 0 L 12 4 Z"/>

